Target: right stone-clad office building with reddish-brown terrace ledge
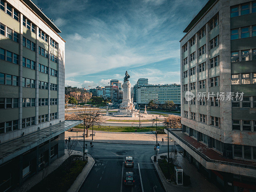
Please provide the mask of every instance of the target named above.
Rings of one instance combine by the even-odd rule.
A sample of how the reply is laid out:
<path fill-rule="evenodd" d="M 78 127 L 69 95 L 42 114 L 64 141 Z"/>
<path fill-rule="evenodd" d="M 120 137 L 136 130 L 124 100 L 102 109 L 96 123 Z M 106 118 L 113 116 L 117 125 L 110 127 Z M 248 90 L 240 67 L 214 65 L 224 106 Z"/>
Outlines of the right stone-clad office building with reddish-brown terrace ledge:
<path fill-rule="evenodd" d="M 210 0 L 180 40 L 182 132 L 169 135 L 224 191 L 256 191 L 255 16 L 255 1 Z"/>

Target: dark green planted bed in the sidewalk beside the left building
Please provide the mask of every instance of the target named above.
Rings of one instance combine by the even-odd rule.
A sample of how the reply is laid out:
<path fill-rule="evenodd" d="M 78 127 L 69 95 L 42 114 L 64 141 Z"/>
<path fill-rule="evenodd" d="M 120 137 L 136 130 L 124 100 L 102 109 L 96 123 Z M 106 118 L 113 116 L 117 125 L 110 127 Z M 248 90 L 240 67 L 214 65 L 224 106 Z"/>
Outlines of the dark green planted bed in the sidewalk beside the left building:
<path fill-rule="evenodd" d="M 83 161 L 83 156 L 71 155 L 57 169 L 29 189 L 28 192 L 68 191 L 86 164 L 87 160 Z"/>

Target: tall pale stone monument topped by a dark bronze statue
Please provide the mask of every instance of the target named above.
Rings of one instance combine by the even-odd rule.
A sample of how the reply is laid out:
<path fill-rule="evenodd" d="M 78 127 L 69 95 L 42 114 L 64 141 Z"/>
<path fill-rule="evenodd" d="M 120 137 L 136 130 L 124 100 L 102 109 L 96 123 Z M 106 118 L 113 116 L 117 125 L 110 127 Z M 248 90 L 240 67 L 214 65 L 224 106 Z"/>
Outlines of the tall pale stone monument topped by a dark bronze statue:
<path fill-rule="evenodd" d="M 123 84 L 123 100 L 117 111 L 117 115 L 135 117 L 138 115 L 139 110 L 135 109 L 133 105 L 133 98 L 131 99 L 131 83 L 128 78 L 130 76 L 126 71 Z"/>

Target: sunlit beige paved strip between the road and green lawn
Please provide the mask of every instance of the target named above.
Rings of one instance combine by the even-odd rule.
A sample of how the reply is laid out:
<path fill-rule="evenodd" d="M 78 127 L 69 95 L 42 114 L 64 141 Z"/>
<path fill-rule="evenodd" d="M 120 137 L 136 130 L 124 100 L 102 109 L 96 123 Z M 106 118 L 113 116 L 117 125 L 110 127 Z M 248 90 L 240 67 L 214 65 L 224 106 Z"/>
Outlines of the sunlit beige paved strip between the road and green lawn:
<path fill-rule="evenodd" d="M 77 132 L 77 140 L 84 140 L 83 132 Z M 76 139 L 76 132 L 65 132 L 65 139 Z M 158 143 L 167 145 L 167 135 L 157 135 Z M 162 143 L 164 138 L 164 143 Z M 85 138 L 85 141 L 92 141 L 92 137 Z M 156 144 L 156 136 L 152 132 L 98 132 L 95 131 L 93 142 L 121 143 L 121 144 Z M 174 143 L 173 143 L 174 144 Z M 172 142 L 170 142 L 172 145 Z"/>

